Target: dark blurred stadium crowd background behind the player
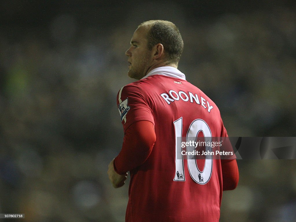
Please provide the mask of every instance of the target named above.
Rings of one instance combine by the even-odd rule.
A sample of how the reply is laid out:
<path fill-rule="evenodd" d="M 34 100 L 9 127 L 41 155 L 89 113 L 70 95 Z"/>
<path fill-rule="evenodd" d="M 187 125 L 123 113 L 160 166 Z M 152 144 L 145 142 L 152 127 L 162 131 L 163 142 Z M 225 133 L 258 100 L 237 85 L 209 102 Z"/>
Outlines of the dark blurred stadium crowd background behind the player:
<path fill-rule="evenodd" d="M 179 27 L 178 68 L 229 136 L 296 136 L 295 2 L 1 1 L 0 213 L 25 214 L 9 221 L 124 221 L 128 182 L 107 176 L 123 139 L 116 95 L 150 19 Z M 238 165 L 221 222 L 296 221 L 296 160 Z"/>

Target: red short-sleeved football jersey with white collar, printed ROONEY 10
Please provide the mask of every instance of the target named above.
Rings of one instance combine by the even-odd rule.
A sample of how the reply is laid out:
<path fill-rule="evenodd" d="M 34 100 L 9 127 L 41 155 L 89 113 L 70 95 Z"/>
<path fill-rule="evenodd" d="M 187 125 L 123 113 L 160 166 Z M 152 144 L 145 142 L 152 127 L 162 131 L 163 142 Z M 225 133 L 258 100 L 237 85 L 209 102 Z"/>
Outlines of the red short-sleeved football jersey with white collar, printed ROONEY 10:
<path fill-rule="evenodd" d="M 156 134 L 147 160 L 128 169 L 126 221 L 218 222 L 221 161 L 177 158 L 184 150 L 181 137 L 200 132 L 205 137 L 227 137 L 215 103 L 178 69 L 159 67 L 122 87 L 118 107 L 124 131 L 136 121 L 147 120 Z"/>

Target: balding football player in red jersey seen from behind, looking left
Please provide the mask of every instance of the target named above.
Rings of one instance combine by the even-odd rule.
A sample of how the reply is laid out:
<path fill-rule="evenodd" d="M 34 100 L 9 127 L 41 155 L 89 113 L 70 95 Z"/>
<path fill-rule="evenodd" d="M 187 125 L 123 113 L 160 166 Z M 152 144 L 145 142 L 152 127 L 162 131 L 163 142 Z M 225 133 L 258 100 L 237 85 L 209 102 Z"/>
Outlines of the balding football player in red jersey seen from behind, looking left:
<path fill-rule="evenodd" d="M 238 183 L 235 159 L 177 158 L 178 138 L 227 137 L 218 107 L 177 69 L 182 51 L 178 28 L 163 20 L 139 25 L 126 51 L 139 81 L 118 93 L 124 140 L 108 174 L 117 188 L 130 171 L 127 222 L 218 222 L 222 190 Z"/>

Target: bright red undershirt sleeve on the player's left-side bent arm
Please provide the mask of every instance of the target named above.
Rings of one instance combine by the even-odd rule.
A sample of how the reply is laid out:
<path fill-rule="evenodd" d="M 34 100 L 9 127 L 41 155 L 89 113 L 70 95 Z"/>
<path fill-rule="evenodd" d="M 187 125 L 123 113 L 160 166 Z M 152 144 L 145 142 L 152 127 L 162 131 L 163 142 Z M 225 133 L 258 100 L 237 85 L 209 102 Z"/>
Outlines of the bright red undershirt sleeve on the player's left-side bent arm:
<path fill-rule="evenodd" d="M 149 157 L 156 141 L 154 125 L 150 121 L 136 121 L 125 131 L 120 153 L 114 160 L 114 169 L 118 174 L 140 166 Z"/>

